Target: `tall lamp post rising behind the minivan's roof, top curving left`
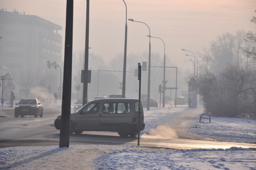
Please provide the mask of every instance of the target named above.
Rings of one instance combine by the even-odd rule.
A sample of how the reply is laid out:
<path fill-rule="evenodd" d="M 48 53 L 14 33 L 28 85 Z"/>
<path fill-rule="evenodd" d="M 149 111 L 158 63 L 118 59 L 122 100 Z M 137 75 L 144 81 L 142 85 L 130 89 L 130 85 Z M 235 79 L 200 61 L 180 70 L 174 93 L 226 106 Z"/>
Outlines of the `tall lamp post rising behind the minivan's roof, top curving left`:
<path fill-rule="evenodd" d="M 123 0 L 124 1 L 124 0 Z M 122 85 L 122 98 L 125 98 L 125 85 L 126 85 L 126 52 L 127 52 L 127 6 L 126 9 L 126 18 L 125 18 L 125 36 L 124 36 L 124 67 L 123 67 L 123 85 Z"/>

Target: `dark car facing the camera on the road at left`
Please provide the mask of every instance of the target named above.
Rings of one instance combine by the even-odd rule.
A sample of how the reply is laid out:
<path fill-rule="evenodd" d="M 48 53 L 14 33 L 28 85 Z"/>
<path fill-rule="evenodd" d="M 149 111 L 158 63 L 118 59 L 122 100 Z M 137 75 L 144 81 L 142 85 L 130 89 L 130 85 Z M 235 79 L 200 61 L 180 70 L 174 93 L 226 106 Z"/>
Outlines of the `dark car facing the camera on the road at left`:
<path fill-rule="evenodd" d="M 43 117 L 43 106 L 38 99 L 21 99 L 19 103 L 15 103 L 15 117 L 24 117 L 24 115 L 34 115 L 34 117 Z"/>

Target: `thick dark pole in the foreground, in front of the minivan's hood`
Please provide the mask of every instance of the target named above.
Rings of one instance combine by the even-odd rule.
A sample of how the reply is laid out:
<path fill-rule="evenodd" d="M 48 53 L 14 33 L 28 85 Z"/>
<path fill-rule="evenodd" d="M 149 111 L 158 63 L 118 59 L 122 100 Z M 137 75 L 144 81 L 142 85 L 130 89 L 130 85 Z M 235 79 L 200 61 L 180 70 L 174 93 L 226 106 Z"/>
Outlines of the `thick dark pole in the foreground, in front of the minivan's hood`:
<path fill-rule="evenodd" d="M 60 148 L 69 147 L 71 83 L 72 83 L 72 47 L 73 47 L 73 7 L 74 0 L 67 0 L 66 33 L 64 51 L 62 110 L 60 123 Z"/>

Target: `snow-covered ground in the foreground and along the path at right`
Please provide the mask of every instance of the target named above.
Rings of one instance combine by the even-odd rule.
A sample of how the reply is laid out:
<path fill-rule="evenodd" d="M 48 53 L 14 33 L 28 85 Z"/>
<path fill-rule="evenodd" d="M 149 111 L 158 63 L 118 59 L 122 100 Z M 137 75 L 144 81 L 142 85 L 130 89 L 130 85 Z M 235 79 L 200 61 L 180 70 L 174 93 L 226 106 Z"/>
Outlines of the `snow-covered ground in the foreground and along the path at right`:
<path fill-rule="evenodd" d="M 202 110 L 202 109 L 201 109 Z M 160 134 L 159 127 L 185 124 L 184 134 L 196 139 L 256 142 L 256 121 L 211 117 L 199 123 L 201 113 L 187 107 L 144 109 L 146 128 L 141 137 L 176 138 Z M 182 113 L 194 115 L 182 119 Z M 196 115 L 196 116 L 195 116 Z M 179 118 L 179 119 L 178 119 Z M 188 119 L 188 118 L 186 118 Z M 26 146 L 0 149 L 0 169 L 248 169 L 256 170 L 255 148 L 175 150 L 131 145 Z"/>

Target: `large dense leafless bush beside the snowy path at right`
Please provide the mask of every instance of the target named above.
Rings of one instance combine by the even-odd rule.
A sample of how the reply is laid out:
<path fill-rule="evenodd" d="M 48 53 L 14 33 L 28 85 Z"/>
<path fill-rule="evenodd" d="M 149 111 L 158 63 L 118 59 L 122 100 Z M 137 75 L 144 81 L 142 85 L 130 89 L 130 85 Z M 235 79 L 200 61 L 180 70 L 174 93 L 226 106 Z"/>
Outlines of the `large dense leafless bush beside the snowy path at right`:
<path fill-rule="evenodd" d="M 229 65 L 219 75 L 208 73 L 197 80 L 204 108 L 214 116 L 256 116 L 256 79 L 248 67 Z"/>

